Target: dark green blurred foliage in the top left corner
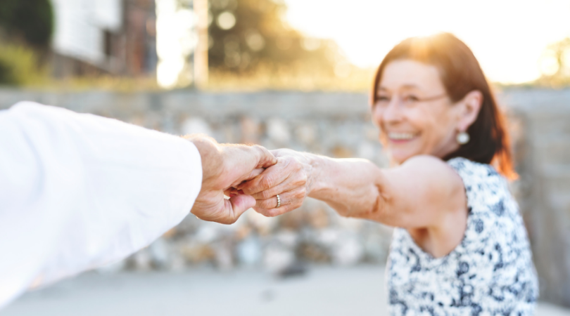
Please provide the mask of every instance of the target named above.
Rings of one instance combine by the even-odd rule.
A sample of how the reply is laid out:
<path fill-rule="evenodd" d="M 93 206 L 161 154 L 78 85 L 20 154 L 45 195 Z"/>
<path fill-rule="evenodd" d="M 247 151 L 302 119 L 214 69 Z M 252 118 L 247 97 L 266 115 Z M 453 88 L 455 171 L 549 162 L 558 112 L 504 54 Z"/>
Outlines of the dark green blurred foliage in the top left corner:
<path fill-rule="evenodd" d="M 8 37 L 36 48 L 46 48 L 53 33 L 49 0 L 0 0 L 0 27 Z"/>

